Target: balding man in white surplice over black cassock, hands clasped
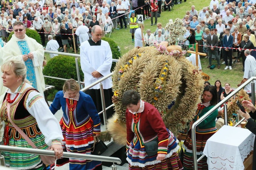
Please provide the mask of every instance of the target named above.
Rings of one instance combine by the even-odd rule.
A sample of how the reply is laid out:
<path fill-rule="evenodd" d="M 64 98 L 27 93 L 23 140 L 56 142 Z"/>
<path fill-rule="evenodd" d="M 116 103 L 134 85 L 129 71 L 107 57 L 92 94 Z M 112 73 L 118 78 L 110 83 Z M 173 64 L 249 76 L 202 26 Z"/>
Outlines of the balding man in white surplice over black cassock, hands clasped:
<path fill-rule="evenodd" d="M 93 26 L 91 39 L 84 41 L 80 47 L 81 68 L 84 72 L 85 87 L 110 74 L 112 65 L 112 52 L 107 41 L 101 40 L 102 29 Z M 104 89 L 105 106 L 112 104 L 112 79 L 111 77 L 102 82 Z M 100 84 L 85 91 L 93 99 L 98 112 L 102 111 Z M 113 114 L 113 107 L 106 111 L 107 119 Z M 100 115 L 103 124 L 103 114 Z"/>

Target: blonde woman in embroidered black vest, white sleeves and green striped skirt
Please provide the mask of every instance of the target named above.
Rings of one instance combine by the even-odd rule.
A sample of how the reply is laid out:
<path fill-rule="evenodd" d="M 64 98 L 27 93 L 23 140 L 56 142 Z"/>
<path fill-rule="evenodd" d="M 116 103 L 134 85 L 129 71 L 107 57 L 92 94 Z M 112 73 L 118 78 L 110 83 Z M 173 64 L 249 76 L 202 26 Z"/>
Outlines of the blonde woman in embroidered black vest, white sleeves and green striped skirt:
<path fill-rule="evenodd" d="M 27 70 L 24 62 L 10 60 L 1 66 L 1 70 L 3 85 L 8 88 L 0 109 L 0 118 L 5 122 L 3 145 L 32 148 L 10 123 L 12 120 L 38 149 L 47 149 L 51 146 L 55 156 L 60 158 L 63 155 L 60 142 L 63 137 L 59 123 L 49 110 L 44 97 L 25 82 Z M 39 155 L 15 152 L 1 152 L 1 154 L 8 167 L 45 169 Z"/>

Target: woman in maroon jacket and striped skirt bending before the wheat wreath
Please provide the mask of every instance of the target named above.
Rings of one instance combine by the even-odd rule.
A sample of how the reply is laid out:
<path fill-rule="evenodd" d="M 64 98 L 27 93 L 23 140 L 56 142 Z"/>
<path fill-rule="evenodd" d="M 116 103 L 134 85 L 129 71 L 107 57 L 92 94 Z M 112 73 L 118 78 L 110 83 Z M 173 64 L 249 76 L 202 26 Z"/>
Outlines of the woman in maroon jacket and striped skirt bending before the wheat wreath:
<path fill-rule="evenodd" d="M 183 169 L 176 137 L 169 131 L 157 109 L 140 99 L 135 90 L 125 91 L 122 104 L 126 109 L 127 158 L 129 170 Z M 154 153 L 146 149 L 156 141 Z M 146 146 L 147 145 L 147 146 Z"/>

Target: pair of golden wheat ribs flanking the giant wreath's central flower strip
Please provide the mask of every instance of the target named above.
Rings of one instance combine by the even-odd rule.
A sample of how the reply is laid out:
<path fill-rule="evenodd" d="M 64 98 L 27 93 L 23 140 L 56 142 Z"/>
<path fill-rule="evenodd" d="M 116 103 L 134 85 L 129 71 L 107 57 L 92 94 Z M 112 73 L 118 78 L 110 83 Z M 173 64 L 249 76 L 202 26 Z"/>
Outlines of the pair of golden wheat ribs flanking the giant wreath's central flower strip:
<path fill-rule="evenodd" d="M 163 90 L 154 102 L 154 106 L 160 113 L 166 111 L 168 105 L 176 98 L 181 84 L 181 67 L 175 58 L 168 55 L 157 55 L 144 68 L 141 80 L 138 85 L 142 100 L 152 103 L 154 100 L 154 83 L 165 64 L 168 63 L 168 74 L 166 82 L 163 82 Z"/>

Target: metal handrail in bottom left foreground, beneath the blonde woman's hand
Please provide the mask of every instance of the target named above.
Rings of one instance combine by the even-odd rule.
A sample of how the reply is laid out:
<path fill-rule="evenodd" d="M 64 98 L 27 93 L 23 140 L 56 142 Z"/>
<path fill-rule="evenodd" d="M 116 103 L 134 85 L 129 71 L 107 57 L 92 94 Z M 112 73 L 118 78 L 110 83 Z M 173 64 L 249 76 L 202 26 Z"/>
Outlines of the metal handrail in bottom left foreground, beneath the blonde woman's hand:
<path fill-rule="evenodd" d="M 0 151 L 55 156 L 55 152 L 50 150 L 11 147 L 11 146 L 4 146 L 4 145 L 0 145 Z M 81 159 L 88 159 L 88 160 L 98 160 L 103 162 L 113 162 L 113 163 L 117 163 L 118 165 L 122 163 L 121 159 L 116 157 L 88 155 L 88 154 L 81 154 L 81 153 L 63 152 L 62 157 L 65 157 L 65 158 L 72 157 L 72 158 L 81 158 Z"/>

